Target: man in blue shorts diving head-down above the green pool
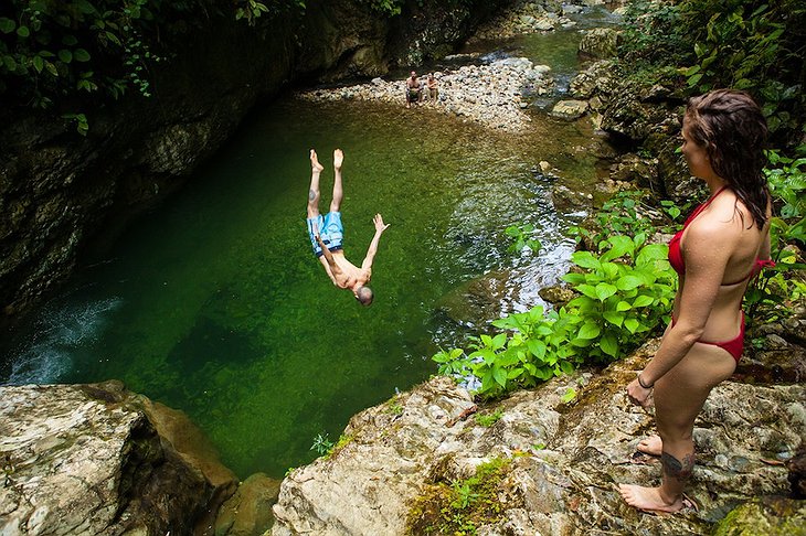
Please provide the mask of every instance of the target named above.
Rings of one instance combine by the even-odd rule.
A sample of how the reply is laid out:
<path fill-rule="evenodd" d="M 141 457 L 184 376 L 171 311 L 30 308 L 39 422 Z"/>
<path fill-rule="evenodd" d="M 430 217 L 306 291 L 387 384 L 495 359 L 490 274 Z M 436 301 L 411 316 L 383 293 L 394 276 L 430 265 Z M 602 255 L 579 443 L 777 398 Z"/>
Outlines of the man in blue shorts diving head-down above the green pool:
<path fill-rule="evenodd" d="M 370 242 L 369 250 L 361 268 L 357 267 L 344 257 L 342 249 L 342 239 L 344 228 L 341 225 L 341 199 L 343 191 L 341 186 L 341 164 L 344 161 L 344 154 L 341 149 L 333 151 L 333 199 L 330 202 L 330 212 L 325 216 L 319 214 L 319 174 L 325 169 L 317 159 L 316 151 L 310 150 L 310 191 L 308 192 L 308 234 L 310 244 L 314 247 L 314 254 L 325 267 L 325 271 L 333 285 L 341 289 L 352 291 L 356 299 L 362 305 L 368 307 L 372 303 L 373 293 L 367 283 L 372 277 L 372 260 L 378 253 L 378 244 L 381 235 L 389 227 L 383 224 L 380 214 L 375 214 L 373 219 L 375 224 L 375 236 Z"/>

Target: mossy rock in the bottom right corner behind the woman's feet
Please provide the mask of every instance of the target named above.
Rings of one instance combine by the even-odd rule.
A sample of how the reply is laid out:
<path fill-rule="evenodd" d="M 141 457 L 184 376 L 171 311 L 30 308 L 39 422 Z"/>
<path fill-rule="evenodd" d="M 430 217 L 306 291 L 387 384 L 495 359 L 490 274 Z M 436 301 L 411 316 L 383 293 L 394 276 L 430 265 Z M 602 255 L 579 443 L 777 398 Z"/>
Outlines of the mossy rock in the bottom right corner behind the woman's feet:
<path fill-rule="evenodd" d="M 732 510 L 713 532 L 714 536 L 806 535 L 806 502 L 763 497 Z"/>

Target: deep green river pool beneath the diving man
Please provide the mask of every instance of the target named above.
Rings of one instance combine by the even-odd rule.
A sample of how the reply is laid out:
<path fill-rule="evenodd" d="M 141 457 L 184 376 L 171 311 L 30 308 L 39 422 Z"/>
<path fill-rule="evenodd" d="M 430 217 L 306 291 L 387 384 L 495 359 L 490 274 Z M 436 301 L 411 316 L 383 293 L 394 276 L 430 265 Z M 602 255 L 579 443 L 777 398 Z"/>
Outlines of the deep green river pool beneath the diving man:
<path fill-rule="evenodd" d="M 436 372 L 429 356 L 466 333 L 436 304 L 464 281 L 506 270 L 518 291 L 502 309 L 540 303 L 537 290 L 568 266 L 573 242 L 563 233 L 580 215 L 555 213 L 551 180 L 532 170 L 548 160 L 591 184 L 600 143 L 584 120 L 539 114 L 512 136 L 402 106 L 274 103 L 3 334 L 0 383 L 121 379 L 188 412 L 241 478 L 280 478 L 317 455 L 318 433 L 335 440 L 350 416 Z M 374 213 L 391 223 L 369 309 L 310 253 L 311 147 L 326 167 L 324 212 L 332 150 L 344 150 L 349 259 L 361 262 Z M 538 228 L 540 254 L 507 251 L 503 231 L 517 223 Z"/>

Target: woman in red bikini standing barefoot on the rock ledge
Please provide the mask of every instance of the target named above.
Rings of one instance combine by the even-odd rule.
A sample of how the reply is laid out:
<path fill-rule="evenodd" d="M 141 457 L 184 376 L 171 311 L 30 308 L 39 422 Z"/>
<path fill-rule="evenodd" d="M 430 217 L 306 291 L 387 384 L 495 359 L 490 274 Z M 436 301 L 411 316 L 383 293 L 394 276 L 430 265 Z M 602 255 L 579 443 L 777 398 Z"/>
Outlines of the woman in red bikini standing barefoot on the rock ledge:
<path fill-rule="evenodd" d="M 655 389 L 659 436 L 638 450 L 660 455 L 659 487 L 619 486 L 630 506 L 677 512 L 694 465 L 694 418 L 709 393 L 729 378 L 742 355 L 747 285 L 770 258 L 770 192 L 762 168 L 766 121 L 745 93 L 718 89 L 690 100 L 682 147 L 691 174 L 711 196 L 669 243 L 678 272 L 671 324 L 655 357 L 627 386 L 634 404 L 648 406 Z"/>

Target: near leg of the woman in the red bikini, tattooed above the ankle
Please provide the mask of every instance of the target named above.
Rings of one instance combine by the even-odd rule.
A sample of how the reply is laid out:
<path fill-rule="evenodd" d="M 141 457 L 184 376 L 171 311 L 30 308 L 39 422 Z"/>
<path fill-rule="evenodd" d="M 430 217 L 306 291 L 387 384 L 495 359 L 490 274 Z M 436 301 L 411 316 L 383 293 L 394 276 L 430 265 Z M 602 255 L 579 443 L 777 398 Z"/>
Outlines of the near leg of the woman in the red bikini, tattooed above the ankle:
<path fill-rule="evenodd" d="M 659 487 L 622 485 L 630 506 L 647 511 L 677 512 L 694 465 L 694 419 L 711 389 L 733 374 L 736 363 L 724 350 L 694 344 L 689 353 L 655 383 L 655 418 L 662 440 L 664 478 Z"/>

